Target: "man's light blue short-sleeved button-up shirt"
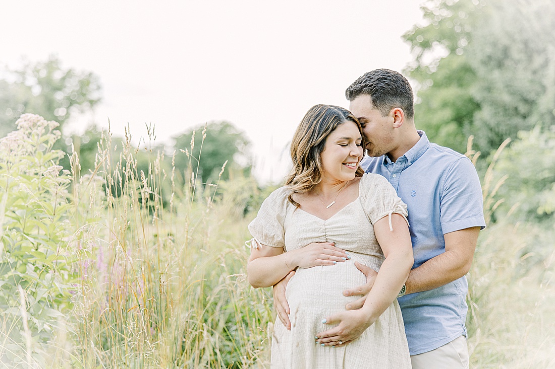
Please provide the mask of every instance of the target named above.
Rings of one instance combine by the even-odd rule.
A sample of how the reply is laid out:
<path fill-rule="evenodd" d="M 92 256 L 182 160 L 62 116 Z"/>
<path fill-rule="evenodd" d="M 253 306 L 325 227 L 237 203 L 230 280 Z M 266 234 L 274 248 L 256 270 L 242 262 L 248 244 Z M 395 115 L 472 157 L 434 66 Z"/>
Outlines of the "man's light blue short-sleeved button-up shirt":
<path fill-rule="evenodd" d="M 430 143 L 423 131 L 405 155 L 392 162 L 386 155 L 362 161 L 366 172 L 387 178 L 407 204 L 415 264 L 445 252 L 443 234 L 486 227 L 480 180 L 472 162 L 447 147 Z M 411 355 L 428 352 L 466 336 L 463 276 L 439 288 L 398 299 Z"/>

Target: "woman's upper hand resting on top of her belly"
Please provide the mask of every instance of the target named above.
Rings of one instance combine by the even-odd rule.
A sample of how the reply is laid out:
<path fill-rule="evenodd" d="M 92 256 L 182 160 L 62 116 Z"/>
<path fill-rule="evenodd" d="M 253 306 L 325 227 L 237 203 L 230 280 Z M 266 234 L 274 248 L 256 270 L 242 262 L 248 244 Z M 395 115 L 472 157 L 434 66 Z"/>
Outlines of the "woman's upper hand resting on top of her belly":
<path fill-rule="evenodd" d="M 345 250 L 335 247 L 333 242 L 312 242 L 287 254 L 289 254 L 285 259 L 287 265 L 305 269 L 312 266 L 334 265 L 351 258 Z"/>

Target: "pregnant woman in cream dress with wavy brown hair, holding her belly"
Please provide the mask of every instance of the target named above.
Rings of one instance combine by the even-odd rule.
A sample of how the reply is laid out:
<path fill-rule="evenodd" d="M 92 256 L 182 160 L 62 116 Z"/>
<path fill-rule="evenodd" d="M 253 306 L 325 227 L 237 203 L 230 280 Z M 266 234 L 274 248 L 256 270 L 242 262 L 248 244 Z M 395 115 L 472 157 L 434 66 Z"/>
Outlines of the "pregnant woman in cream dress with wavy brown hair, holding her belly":
<path fill-rule="evenodd" d="M 371 137 L 370 137 L 371 139 Z M 349 111 L 316 105 L 291 142 L 293 169 L 249 224 L 249 283 L 287 283 L 291 329 L 276 321 L 271 367 L 410 368 L 396 297 L 413 263 L 406 205 L 387 180 L 364 174 L 365 137 Z M 379 270 L 364 306 L 355 261 Z M 319 333 L 321 332 L 321 333 Z"/>

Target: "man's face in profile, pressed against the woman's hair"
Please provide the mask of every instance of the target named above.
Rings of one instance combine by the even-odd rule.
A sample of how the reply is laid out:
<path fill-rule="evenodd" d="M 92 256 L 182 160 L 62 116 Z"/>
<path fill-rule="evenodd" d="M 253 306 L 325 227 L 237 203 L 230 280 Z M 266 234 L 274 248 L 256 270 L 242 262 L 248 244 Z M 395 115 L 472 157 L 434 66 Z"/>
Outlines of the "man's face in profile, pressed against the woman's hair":
<path fill-rule="evenodd" d="M 382 116 L 381 112 L 372 105 L 370 95 L 360 95 L 349 104 L 349 110 L 362 125 L 362 132 L 366 136 L 366 151 L 369 156 L 385 155 L 393 150 L 393 116 Z"/>

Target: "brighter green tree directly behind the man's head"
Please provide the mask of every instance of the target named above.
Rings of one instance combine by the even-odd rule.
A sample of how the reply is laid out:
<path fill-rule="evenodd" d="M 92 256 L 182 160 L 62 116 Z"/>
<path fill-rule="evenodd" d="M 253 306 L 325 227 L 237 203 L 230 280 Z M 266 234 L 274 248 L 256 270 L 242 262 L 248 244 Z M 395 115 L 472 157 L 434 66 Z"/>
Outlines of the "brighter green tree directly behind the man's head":
<path fill-rule="evenodd" d="M 417 127 L 432 141 L 464 152 L 480 104 L 472 95 L 476 72 L 463 50 L 472 42 L 482 6 L 442 0 L 425 3 L 422 11 L 426 25 L 403 35 L 415 57 L 405 72 L 418 83 Z"/>

